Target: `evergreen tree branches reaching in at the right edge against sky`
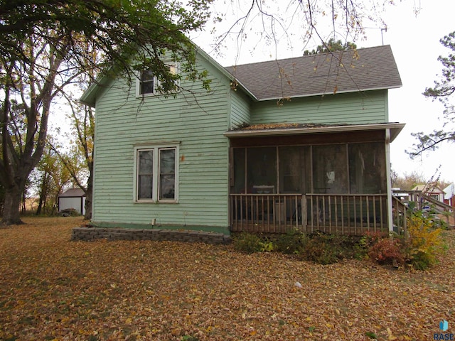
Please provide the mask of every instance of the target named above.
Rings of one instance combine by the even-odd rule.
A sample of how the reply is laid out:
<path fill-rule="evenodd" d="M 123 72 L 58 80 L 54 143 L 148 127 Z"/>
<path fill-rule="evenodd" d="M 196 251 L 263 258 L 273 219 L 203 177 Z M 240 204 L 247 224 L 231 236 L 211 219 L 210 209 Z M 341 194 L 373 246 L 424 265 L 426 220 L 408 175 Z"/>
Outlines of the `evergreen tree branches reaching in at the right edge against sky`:
<path fill-rule="evenodd" d="M 443 65 L 441 80 L 435 81 L 433 87 L 428 87 L 424 96 L 439 100 L 444 105 L 443 129 L 435 129 L 429 134 L 422 131 L 412 134 L 418 140 L 413 150 L 409 152 L 412 158 L 423 151 L 435 150 L 444 141 L 455 141 L 455 107 L 452 102 L 455 93 L 455 31 L 440 41 L 444 47 L 449 48 L 449 53 L 446 56 L 439 56 L 438 60 Z"/>

